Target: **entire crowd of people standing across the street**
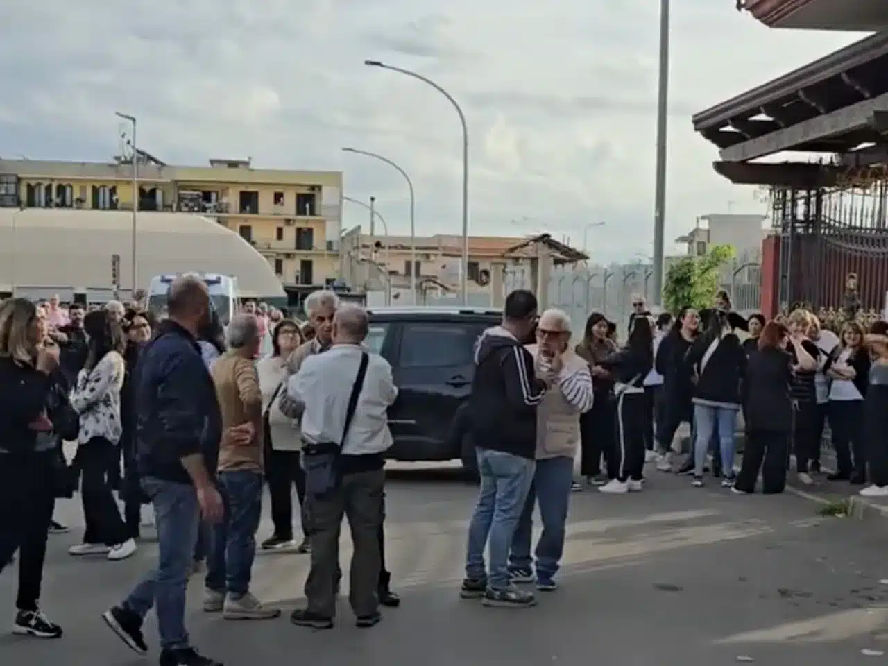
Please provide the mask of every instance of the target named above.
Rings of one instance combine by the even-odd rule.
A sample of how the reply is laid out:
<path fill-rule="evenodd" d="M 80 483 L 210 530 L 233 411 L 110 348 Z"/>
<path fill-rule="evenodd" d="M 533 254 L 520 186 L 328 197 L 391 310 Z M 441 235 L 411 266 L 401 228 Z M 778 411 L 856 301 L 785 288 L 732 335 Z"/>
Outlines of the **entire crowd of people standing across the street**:
<path fill-rule="evenodd" d="M 798 480 L 815 483 L 829 424 L 836 470 L 827 478 L 888 496 L 888 323 L 866 332 L 851 323 L 836 337 L 805 310 L 743 318 L 724 293 L 675 317 L 654 317 L 642 298 L 633 306 L 624 344 L 614 322 L 591 313 L 572 345 L 566 313 L 539 313 L 535 295 L 516 290 L 502 323 L 479 338 L 451 433 L 476 444 L 480 472 L 463 598 L 531 607 L 535 594 L 522 584 L 557 590 L 571 493 L 640 492 L 646 462 L 697 487 L 711 473 L 738 494 L 761 475 L 765 493 L 780 493 L 790 454 Z M 52 519 L 55 500 L 77 487 L 85 530 L 72 556 L 131 557 L 141 506 L 153 505 L 157 566 L 103 618 L 146 654 L 142 624 L 155 608 L 162 666 L 219 664 L 188 637 L 189 576 L 204 573 L 207 613 L 281 614 L 250 591 L 257 548 L 309 555 L 306 605 L 289 619 L 333 627 L 344 518 L 357 626 L 399 606 L 385 566 L 392 369 L 364 345 L 360 306 L 318 291 L 305 313 L 302 325 L 245 304 L 223 327 L 206 285 L 190 276 L 170 286 L 163 321 L 139 304 L 0 304 L 0 568 L 18 551 L 16 633 L 62 634 L 39 607 L 40 588 L 47 534 L 67 530 Z M 735 473 L 740 415 L 746 449 Z M 691 442 L 679 463 L 682 424 Z M 76 444 L 72 461 L 63 441 Z M 266 482 L 274 531 L 257 546 Z M 532 548 L 537 508 L 543 531 Z"/>

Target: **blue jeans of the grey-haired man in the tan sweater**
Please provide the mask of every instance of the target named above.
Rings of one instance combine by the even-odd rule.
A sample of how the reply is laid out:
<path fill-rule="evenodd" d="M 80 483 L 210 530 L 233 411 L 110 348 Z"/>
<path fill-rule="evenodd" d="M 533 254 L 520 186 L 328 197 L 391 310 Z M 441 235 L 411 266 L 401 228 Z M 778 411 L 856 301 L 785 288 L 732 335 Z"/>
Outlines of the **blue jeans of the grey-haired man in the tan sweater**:
<path fill-rule="evenodd" d="M 218 472 L 225 519 L 212 527 L 207 554 L 208 590 L 240 599 L 250 591 L 256 530 L 262 518 L 261 472 Z"/>

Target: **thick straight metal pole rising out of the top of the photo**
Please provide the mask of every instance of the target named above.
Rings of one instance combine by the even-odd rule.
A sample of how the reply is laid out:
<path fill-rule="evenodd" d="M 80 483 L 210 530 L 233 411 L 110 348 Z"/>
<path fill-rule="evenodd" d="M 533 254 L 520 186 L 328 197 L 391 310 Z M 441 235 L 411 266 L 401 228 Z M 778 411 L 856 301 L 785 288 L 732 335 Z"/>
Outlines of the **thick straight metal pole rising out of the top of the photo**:
<path fill-rule="evenodd" d="M 657 84 L 657 152 L 654 186 L 654 305 L 662 304 L 663 227 L 666 220 L 666 131 L 669 120 L 670 0 L 660 0 L 660 75 Z"/>

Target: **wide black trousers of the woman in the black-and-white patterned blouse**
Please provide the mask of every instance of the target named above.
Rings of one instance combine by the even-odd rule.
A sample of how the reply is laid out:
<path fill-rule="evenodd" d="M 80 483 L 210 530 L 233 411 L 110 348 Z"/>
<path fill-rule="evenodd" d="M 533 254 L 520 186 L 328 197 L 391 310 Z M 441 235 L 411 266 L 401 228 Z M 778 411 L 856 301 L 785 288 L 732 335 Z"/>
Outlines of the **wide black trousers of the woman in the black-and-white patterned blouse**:
<path fill-rule="evenodd" d="M 103 437 L 93 437 L 77 447 L 77 460 L 83 471 L 80 487 L 86 522 L 83 543 L 113 546 L 131 538 L 107 478 L 112 459 L 120 460 L 120 449 Z"/>

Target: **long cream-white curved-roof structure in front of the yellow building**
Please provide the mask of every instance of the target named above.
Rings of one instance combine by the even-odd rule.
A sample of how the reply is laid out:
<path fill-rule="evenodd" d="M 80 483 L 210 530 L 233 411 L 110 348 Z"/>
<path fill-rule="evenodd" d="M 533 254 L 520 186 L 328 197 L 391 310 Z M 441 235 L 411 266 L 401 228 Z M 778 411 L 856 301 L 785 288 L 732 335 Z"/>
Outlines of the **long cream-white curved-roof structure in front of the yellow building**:
<path fill-rule="evenodd" d="M 110 291 L 115 254 L 121 287 L 129 293 L 128 210 L 0 209 L 0 290 L 58 292 L 66 300 L 67 292 Z M 139 213 L 136 267 L 139 289 L 147 289 L 155 275 L 194 271 L 236 275 L 244 296 L 286 297 L 273 268 L 249 242 L 200 215 Z"/>

